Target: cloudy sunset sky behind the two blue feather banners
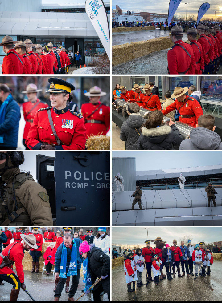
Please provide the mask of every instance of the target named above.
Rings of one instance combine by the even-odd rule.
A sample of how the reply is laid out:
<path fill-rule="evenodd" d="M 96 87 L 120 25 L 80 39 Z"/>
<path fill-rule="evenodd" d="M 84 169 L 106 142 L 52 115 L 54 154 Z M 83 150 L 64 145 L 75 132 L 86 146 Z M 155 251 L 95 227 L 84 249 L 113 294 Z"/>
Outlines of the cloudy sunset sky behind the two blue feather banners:
<path fill-rule="evenodd" d="M 129 1 L 129 0 L 113 0 L 112 1 L 112 9 L 116 9 L 116 5 L 118 5 L 122 10 L 123 13 L 126 13 L 127 10 L 130 10 L 131 12 L 134 11 L 134 13 L 139 12 L 149 12 L 149 13 L 160 13 L 160 14 L 168 14 L 168 8 L 169 8 L 169 0 L 149 0 L 149 1 Z M 205 1 L 207 2 L 207 1 Z M 196 1 L 190 1 L 189 4 L 185 5 L 187 3 L 185 0 L 182 0 L 180 5 L 178 6 L 176 13 L 178 15 L 184 15 L 186 17 L 186 8 L 187 8 L 187 16 L 188 15 L 194 15 L 195 19 L 197 19 L 197 13 L 199 10 L 199 7 L 204 3 L 203 0 L 196 0 Z M 208 1 L 210 3 L 210 8 L 207 11 L 207 13 L 204 15 L 205 18 L 214 18 L 215 16 L 215 10 L 216 16 L 222 17 L 222 2 L 220 0 L 211 0 Z"/>

